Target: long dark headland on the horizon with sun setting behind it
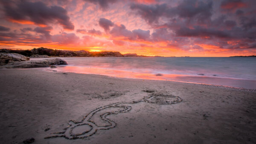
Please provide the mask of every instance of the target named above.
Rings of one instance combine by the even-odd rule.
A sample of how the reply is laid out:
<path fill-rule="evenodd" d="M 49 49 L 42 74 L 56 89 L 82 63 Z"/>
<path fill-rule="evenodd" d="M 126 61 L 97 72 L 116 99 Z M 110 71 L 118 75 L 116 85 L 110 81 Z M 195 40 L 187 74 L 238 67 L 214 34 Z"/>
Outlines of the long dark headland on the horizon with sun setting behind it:
<path fill-rule="evenodd" d="M 68 51 L 58 49 L 47 49 L 44 47 L 34 48 L 31 50 L 16 50 L 16 49 L 0 49 L 0 52 L 13 52 L 30 57 L 32 55 L 48 55 L 50 57 L 147 57 L 145 55 L 125 54 L 120 52 L 89 52 L 85 50 Z"/>

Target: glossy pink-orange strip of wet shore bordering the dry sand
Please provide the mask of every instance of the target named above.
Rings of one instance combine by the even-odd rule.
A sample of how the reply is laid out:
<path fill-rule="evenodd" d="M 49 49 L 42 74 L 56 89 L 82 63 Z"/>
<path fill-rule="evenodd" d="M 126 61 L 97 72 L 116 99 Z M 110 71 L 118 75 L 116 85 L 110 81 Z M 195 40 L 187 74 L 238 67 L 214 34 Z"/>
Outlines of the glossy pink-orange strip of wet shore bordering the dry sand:
<path fill-rule="evenodd" d="M 256 81 L 254 80 L 242 80 L 233 78 L 219 78 L 219 77 L 207 77 L 207 76 L 191 76 L 191 75 L 177 75 L 177 74 L 162 74 L 160 76 L 152 73 L 142 72 L 129 72 L 124 70 L 104 69 L 104 68 L 90 68 L 79 66 L 61 66 L 55 70 L 60 72 L 75 72 L 83 74 L 95 74 L 95 75 L 107 75 L 118 78 L 139 78 L 147 80 L 161 80 L 161 81 L 178 81 L 193 84 L 213 84 L 220 86 L 229 86 L 246 89 L 256 89 Z"/>

